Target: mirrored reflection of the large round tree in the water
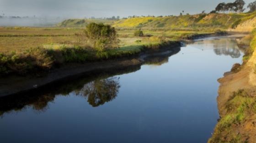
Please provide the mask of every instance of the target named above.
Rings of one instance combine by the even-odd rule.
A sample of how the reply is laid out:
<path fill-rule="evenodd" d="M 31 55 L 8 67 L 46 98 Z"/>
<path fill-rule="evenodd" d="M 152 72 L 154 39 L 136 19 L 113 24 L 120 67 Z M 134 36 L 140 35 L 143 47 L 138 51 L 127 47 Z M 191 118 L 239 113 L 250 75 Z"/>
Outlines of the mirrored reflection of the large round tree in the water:
<path fill-rule="evenodd" d="M 87 97 L 92 107 L 98 107 L 115 99 L 119 88 L 119 78 L 110 77 L 85 84 L 78 94 Z"/>

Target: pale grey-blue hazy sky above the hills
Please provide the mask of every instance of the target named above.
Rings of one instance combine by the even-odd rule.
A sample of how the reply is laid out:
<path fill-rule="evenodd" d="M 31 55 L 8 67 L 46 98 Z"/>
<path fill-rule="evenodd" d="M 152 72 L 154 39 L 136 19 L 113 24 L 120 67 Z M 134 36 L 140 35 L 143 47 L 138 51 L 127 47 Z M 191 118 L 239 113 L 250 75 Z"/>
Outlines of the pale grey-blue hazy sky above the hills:
<path fill-rule="evenodd" d="M 0 15 L 37 17 L 128 17 L 209 12 L 235 0 L 0 0 Z M 245 0 L 245 6 L 254 0 Z"/>

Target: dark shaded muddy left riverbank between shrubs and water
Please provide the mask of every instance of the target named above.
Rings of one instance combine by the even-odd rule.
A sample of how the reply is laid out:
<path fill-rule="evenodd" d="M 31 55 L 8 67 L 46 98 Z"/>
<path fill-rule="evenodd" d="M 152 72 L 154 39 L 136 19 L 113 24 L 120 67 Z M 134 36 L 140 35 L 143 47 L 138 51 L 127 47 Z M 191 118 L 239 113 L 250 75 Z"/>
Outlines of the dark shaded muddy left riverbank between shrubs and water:
<path fill-rule="evenodd" d="M 155 50 L 144 51 L 138 55 L 130 57 L 117 58 L 106 61 L 96 61 L 90 63 L 68 63 L 59 68 L 53 69 L 48 73 L 40 77 L 36 76 L 7 76 L 0 79 L 0 97 L 21 94 L 27 91 L 38 90 L 43 86 L 48 86 L 52 83 L 58 84 L 59 80 L 73 78 L 74 76 L 80 76 L 88 72 L 106 72 L 116 71 L 127 68 L 129 66 L 139 66 L 147 61 L 150 61 L 150 57 L 157 55 L 170 55 L 176 54 L 180 51 L 180 42 L 172 42 L 171 45 L 166 45 Z M 54 84 L 53 84 L 54 82 Z"/>

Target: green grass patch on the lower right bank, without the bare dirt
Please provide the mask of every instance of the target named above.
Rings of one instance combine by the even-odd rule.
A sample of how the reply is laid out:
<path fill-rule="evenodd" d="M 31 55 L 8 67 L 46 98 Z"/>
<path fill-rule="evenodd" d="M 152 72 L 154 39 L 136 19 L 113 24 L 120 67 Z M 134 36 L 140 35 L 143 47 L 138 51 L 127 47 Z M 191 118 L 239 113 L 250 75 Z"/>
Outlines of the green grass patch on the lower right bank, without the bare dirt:
<path fill-rule="evenodd" d="M 246 138 L 240 138 L 240 135 L 236 133 L 236 129 L 240 128 L 240 125 L 245 123 L 252 114 L 256 113 L 256 98 L 249 96 L 248 91 L 239 90 L 234 92 L 226 102 L 225 109 L 227 113 L 216 125 L 213 137 L 208 142 L 245 143 Z"/>

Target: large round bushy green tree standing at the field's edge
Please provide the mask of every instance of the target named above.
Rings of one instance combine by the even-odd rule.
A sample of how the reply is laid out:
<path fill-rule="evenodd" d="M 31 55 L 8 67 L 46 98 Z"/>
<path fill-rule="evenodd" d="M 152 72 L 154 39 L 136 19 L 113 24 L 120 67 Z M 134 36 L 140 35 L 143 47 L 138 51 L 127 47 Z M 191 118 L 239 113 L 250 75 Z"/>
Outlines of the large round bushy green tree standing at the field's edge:
<path fill-rule="evenodd" d="M 102 23 L 90 23 L 87 25 L 85 36 L 97 51 L 113 48 L 117 44 L 117 31 L 115 28 Z"/>

